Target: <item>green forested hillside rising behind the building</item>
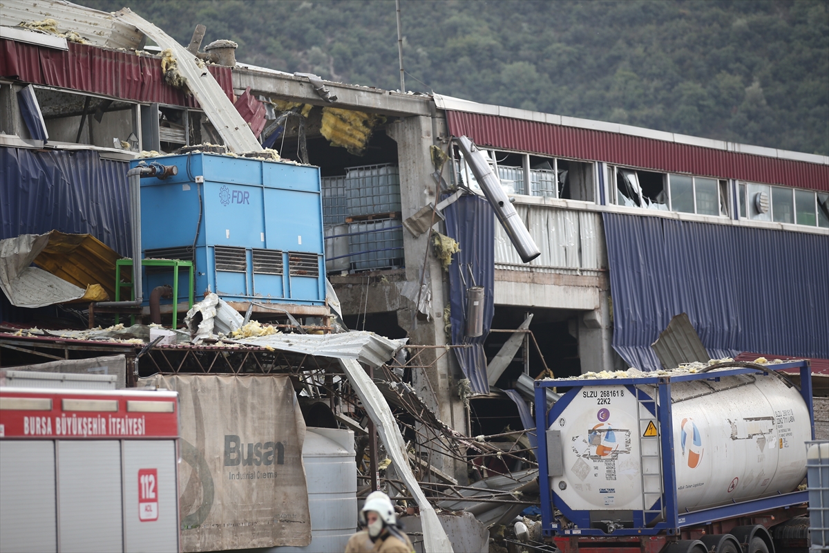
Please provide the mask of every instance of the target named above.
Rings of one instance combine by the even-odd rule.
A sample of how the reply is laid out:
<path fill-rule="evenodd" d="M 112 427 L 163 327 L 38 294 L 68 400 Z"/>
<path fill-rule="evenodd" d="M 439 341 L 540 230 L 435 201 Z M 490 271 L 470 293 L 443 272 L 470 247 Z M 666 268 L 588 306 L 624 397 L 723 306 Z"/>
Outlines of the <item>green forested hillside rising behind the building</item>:
<path fill-rule="evenodd" d="M 76 0 L 124 5 L 187 44 L 400 88 L 395 2 Z M 402 0 L 406 88 L 829 154 L 829 2 Z"/>

